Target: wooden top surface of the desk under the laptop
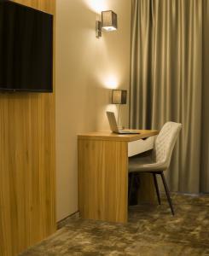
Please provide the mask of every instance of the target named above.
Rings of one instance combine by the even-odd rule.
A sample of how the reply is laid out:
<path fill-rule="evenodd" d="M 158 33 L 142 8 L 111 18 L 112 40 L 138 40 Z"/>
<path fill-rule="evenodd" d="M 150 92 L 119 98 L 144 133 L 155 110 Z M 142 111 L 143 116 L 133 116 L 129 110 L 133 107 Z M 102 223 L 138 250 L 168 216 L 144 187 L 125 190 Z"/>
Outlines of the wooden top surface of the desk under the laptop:
<path fill-rule="evenodd" d="M 95 131 L 78 134 L 78 139 L 85 140 L 103 140 L 103 141 L 119 141 L 133 142 L 146 137 L 152 137 L 159 134 L 156 130 L 136 130 L 139 134 L 117 134 L 112 131 Z"/>

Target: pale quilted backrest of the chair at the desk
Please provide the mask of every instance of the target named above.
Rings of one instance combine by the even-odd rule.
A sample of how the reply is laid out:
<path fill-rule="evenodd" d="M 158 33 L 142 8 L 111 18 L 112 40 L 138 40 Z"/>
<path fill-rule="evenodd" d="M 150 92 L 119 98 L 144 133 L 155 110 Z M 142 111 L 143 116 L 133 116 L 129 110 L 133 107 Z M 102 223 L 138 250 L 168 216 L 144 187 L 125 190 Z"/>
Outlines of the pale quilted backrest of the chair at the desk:
<path fill-rule="evenodd" d="M 179 131 L 182 129 L 182 124 L 167 122 L 163 125 L 158 137 L 154 143 L 154 161 L 157 163 L 165 163 L 166 168 L 171 162 L 171 154 Z"/>

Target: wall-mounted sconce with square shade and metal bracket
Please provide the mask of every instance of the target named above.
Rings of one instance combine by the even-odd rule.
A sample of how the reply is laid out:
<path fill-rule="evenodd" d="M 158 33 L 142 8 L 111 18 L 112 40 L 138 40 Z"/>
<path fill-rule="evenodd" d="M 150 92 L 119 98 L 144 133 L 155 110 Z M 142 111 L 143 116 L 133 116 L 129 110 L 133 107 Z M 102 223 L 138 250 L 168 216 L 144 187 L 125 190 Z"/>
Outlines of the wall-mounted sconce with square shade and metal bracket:
<path fill-rule="evenodd" d="M 96 20 L 96 38 L 102 37 L 102 29 L 107 32 L 112 32 L 118 28 L 118 19 L 117 15 L 111 11 L 102 12 L 102 21 Z"/>

